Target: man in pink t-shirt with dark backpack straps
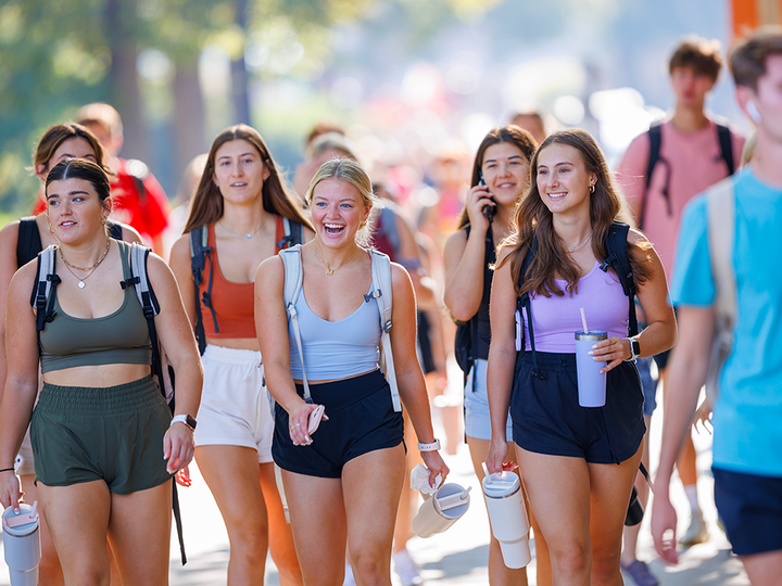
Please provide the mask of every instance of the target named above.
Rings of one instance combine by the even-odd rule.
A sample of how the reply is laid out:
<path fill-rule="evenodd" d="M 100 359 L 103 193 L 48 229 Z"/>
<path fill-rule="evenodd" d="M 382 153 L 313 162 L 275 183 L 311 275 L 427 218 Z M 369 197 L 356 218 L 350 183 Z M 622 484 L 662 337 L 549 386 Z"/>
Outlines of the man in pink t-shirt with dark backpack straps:
<path fill-rule="evenodd" d="M 669 62 L 676 97 L 673 113 L 633 139 L 616 171 L 639 228 L 654 244 L 669 278 L 673 271 L 677 233 L 684 205 L 732 174 L 739 167 L 744 146 L 741 136 L 718 125 L 704 112 L 706 97 L 722 66 L 719 49 L 719 41 L 698 37 L 688 37 L 680 42 Z M 665 385 L 667 360 L 667 352 L 655 356 L 665 395 L 668 391 Z M 647 398 L 647 404 L 654 409 L 654 397 Z M 644 407 L 651 418 L 651 409 Z M 645 461 L 648 462 L 647 453 Z M 692 510 L 692 521 L 681 543 L 691 546 L 708 539 L 697 499 L 692 437 L 685 442 L 677 468 Z M 639 498 L 645 504 L 648 496 L 645 482 L 636 483 L 636 487 Z M 645 563 L 635 559 L 639 526 L 626 528 L 622 568 L 638 586 L 654 586 L 657 581 Z"/>

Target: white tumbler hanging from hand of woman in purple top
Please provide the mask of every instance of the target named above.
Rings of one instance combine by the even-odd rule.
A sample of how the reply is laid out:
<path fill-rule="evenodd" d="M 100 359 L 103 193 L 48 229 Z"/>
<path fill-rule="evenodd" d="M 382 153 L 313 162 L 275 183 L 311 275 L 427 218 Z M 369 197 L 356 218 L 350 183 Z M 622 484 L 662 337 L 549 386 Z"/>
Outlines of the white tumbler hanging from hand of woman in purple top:
<path fill-rule="evenodd" d="M 529 547 L 529 520 L 521 495 L 521 482 L 514 472 L 487 474 L 483 477 L 492 533 L 508 568 L 524 568 L 532 561 Z"/>

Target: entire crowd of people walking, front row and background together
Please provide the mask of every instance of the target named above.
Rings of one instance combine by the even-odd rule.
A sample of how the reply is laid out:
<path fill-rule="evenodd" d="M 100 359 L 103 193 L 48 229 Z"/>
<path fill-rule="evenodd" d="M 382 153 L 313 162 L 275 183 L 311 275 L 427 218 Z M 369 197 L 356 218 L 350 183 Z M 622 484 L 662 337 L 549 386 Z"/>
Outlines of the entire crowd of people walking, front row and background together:
<path fill-rule="evenodd" d="M 119 157 L 111 105 L 51 127 L 34 215 L 0 231 L 0 501 L 40 502 L 40 583 L 167 584 L 174 483 L 194 458 L 228 584 L 262 583 L 267 553 L 283 585 L 389 584 L 392 569 L 421 584 L 409 475 L 422 463 L 442 483 L 441 450 L 466 441 L 479 481 L 520 475 L 539 586 L 622 572 L 655 586 L 628 508 L 646 507 L 659 450 L 657 551 L 676 562 L 677 544 L 708 539 L 691 430 L 712 423 L 720 526 L 754 585 L 780 584 L 782 283 L 766 259 L 782 234 L 782 29 L 731 53 L 746 143 L 706 110 L 720 50 L 673 49 L 673 107 L 615 169 L 585 130 L 524 111 L 476 153 L 454 141 L 422 160 L 371 156 L 324 122 L 288 184 L 237 125 L 172 208 L 144 163 Z M 712 213 L 717 191 L 730 213 Z M 584 316 L 607 332 L 591 351 L 603 407 L 579 405 Z M 709 374 L 719 394 L 702 392 Z M 485 538 L 489 583 L 527 584 Z"/>

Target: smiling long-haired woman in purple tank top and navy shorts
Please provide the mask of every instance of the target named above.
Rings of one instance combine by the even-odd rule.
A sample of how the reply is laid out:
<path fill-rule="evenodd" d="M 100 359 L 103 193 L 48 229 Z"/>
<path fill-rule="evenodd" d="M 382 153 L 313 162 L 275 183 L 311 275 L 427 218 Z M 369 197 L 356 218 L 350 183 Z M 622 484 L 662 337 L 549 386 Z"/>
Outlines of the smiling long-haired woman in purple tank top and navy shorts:
<path fill-rule="evenodd" d="M 487 464 L 489 472 L 510 466 L 509 408 L 519 469 L 548 544 L 554 584 L 620 585 L 622 526 L 645 431 L 634 358 L 673 344 L 673 310 L 657 254 L 643 234 L 630 230 L 628 255 L 648 327 L 627 337 L 630 302 L 606 263 L 605 240 L 620 216 L 621 199 L 588 132 L 551 135 L 530 168 L 530 188 L 497 253 L 493 279 Z M 514 316 L 525 294 L 529 349 L 517 353 Z M 592 351 L 606 364 L 603 407 L 579 406 L 573 332 L 582 329 L 580 307 L 593 308 L 590 329 L 609 332 Z"/>

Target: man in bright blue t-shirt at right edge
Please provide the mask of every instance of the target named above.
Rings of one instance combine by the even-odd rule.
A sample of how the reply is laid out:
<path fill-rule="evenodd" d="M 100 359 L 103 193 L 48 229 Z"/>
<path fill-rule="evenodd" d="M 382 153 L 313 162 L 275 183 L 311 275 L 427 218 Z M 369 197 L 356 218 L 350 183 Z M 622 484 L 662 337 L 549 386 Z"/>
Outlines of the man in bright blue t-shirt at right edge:
<path fill-rule="evenodd" d="M 730 55 L 736 100 L 756 125 L 747 167 L 717 186 L 733 201 L 732 247 L 718 258 L 708 233 L 717 194 L 702 194 L 684 209 L 671 300 L 679 311 L 680 341 L 669 367 L 663 446 L 655 477 L 652 535 L 659 556 L 678 561 L 677 513 L 670 479 L 690 434 L 701 387 L 717 370 L 712 413 L 715 502 L 733 552 L 753 586 L 782 579 L 782 273 L 772 258 L 782 246 L 782 27 L 762 27 Z M 724 192 L 723 192 L 724 193 Z M 724 217 L 726 205 L 717 207 Z M 728 215 L 730 217 L 730 214 Z M 718 222 L 719 220 L 717 220 Z M 726 224 L 726 222 L 723 222 Z M 728 275 L 718 267 L 726 267 Z M 730 273 L 733 273 L 731 284 Z M 731 347 L 711 364 L 726 290 L 733 290 Z M 729 297 L 730 298 L 730 297 Z"/>

